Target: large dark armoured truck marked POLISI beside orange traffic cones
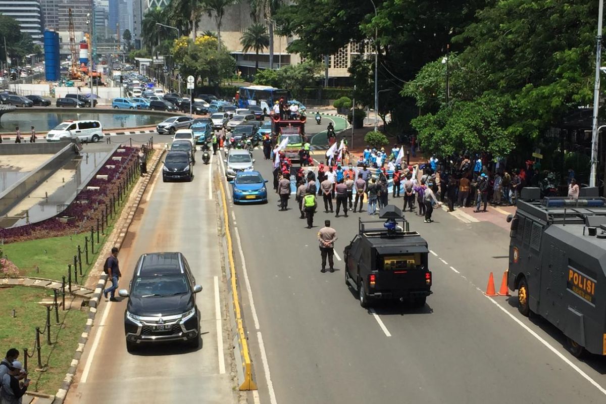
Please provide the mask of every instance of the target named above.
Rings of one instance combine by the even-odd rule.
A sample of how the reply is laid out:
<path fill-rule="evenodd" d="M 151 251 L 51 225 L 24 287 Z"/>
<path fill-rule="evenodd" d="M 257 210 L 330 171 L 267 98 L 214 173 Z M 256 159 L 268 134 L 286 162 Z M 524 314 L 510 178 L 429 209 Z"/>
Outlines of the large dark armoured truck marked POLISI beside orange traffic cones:
<path fill-rule="evenodd" d="M 545 197 L 522 190 L 511 222 L 507 284 L 518 310 L 567 337 L 567 349 L 606 355 L 606 199 Z"/>

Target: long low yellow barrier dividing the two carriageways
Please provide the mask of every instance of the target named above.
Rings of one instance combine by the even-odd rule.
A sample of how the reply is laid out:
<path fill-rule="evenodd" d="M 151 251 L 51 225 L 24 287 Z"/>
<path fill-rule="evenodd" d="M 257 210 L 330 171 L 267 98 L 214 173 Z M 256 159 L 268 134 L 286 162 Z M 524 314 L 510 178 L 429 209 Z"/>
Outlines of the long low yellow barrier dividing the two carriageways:
<path fill-rule="evenodd" d="M 250 352 L 248 351 L 248 340 L 244 332 L 244 324 L 242 323 L 242 311 L 240 307 L 240 299 L 238 296 L 238 281 L 236 279 L 236 265 L 233 259 L 233 242 L 231 241 L 231 233 L 229 229 L 229 216 L 227 216 L 227 200 L 225 199 L 225 187 L 223 181 L 219 179 L 219 189 L 221 190 L 221 201 L 223 205 L 223 217 L 225 225 L 225 237 L 227 239 L 227 259 L 229 261 L 230 285 L 231 285 L 231 303 L 233 304 L 233 313 L 235 314 L 235 340 L 238 340 L 239 355 L 242 363 L 242 369 L 238 371 L 238 380 L 240 390 L 256 390 L 257 385 L 253 380 L 253 365 L 250 360 Z M 221 338 L 221 336 L 219 336 Z"/>

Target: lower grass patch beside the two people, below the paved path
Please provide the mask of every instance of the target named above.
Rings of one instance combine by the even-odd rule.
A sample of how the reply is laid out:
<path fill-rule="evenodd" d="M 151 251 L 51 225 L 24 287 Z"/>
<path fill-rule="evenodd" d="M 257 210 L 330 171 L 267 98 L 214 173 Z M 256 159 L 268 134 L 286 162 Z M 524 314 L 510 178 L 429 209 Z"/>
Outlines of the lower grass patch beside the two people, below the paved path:
<path fill-rule="evenodd" d="M 38 359 L 35 346 L 36 326 L 44 329 L 46 309 L 38 302 L 45 298 L 52 299 L 53 294 L 39 288 L 15 286 L 0 288 L 0 346 L 2 354 L 8 348 L 19 349 L 19 360 L 24 361 L 23 348 L 29 350 L 33 357 L 28 358 L 29 378 L 32 379 L 30 391 L 55 394 L 72 362 L 73 353 L 78 346 L 87 319 L 87 312 L 78 309 L 62 311 L 59 308 L 59 322 L 55 324 L 55 312 L 51 313 L 51 341 L 47 345 L 46 335 L 41 336 L 42 365 L 48 365 L 47 371 L 36 372 Z M 67 296 L 66 296 L 67 299 Z M 67 300 L 66 300 L 67 303 Z M 12 317 L 13 308 L 16 317 Z"/>

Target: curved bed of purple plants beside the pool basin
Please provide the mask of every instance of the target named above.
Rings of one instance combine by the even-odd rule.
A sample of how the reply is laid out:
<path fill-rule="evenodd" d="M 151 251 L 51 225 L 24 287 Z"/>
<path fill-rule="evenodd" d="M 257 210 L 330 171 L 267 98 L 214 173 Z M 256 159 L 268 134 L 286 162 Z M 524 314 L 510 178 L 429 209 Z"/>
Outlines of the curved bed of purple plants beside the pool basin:
<path fill-rule="evenodd" d="M 111 204 L 112 195 L 117 194 L 119 184 L 124 180 L 125 175 L 131 167 L 137 164 L 137 153 L 139 148 L 122 147 L 126 151 L 116 151 L 113 156 L 122 157 L 121 161 L 110 159 L 106 165 L 115 165 L 115 168 L 102 167 L 97 174 L 107 175 L 107 180 L 93 177 L 87 186 L 99 187 L 99 190 L 87 190 L 84 188 L 76 199 L 61 214 L 42 222 L 13 227 L 0 228 L 0 239 L 5 243 L 12 243 L 24 240 L 43 239 L 46 237 L 65 236 L 79 228 L 89 229 L 96 225 L 96 220 L 101 219 L 101 211 L 105 212 L 105 204 Z M 86 203 L 79 201 L 86 200 Z M 75 217 L 72 222 L 61 222 L 59 217 Z"/>

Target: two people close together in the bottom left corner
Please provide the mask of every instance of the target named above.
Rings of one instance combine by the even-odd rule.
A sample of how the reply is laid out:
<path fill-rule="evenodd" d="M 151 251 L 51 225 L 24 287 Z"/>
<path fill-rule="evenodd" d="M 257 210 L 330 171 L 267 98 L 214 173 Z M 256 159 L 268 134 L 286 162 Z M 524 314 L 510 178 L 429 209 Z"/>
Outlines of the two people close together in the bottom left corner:
<path fill-rule="evenodd" d="M 8 349 L 4 359 L 0 361 L 0 403 L 21 404 L 23 396 L 30 385 L 27 371 L 17 360 L 19 350 Z"/>

